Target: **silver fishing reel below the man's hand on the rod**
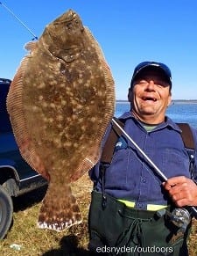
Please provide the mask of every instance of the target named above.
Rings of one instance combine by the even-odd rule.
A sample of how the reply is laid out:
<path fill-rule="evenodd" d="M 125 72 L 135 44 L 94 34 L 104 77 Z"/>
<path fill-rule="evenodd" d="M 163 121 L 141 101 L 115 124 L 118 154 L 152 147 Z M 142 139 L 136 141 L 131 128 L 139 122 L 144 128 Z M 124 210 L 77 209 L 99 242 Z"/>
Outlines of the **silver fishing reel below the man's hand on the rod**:
<path fill-rule="evenodd" d="M 174 208 L 172 212 L 164 209 L 158 210 L 158 216 L 168 216 L 170 221 L 179 228 L 179 231 L 185 232 L 188 224 L 191 222 L 191 214 L 186 208 Z"/>

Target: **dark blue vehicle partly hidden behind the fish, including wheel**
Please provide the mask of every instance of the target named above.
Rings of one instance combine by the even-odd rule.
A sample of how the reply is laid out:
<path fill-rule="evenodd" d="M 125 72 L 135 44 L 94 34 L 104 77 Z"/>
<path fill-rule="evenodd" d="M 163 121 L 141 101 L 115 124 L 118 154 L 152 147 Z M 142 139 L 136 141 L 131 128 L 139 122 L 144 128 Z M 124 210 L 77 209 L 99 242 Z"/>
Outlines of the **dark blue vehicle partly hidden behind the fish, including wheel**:
<path fill-rule="evenodd" d="M 6 109 L 10 85 L 10 79 L 0 78 L 0 239 L 4 238 L 11 226 L 11 197 L 47 184 L 46 179 L 33 171 L 19 153 Z"/>

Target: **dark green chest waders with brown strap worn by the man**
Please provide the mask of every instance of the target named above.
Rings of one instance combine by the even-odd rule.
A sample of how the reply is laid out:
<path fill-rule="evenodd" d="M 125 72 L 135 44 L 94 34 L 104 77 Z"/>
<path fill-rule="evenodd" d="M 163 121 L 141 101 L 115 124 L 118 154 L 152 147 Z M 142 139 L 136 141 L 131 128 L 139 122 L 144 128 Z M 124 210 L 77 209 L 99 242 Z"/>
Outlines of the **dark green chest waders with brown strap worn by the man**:
<path fill-rule="evenodd" d="M 102 255 L 112 256 L 188 255 L 186 238 L 191 223 L 183 231 L 169 220 L 169 216 L 160 215 L 159 211 L 128 208 L 121 201 L 105 194 L 104 172 L 113 154 L 109 153 L 109 148 L 112 145 L 115 147 L 117 136 L 121 135 L 116 128 L 113 127 L 111 130 L 113 132 L 109 134 L 102 151 L 102 193 L 92 192 L 89 210 L 89 249 L 98 252 L 98 255 L 103 253 Z M 190 135 L 186 137 L 191 138 Z M 190 149 L 193 149 L 191 145 Z M 193 157 L 191 159 L 193 160 Z M 193 166 L 194 163 L 190 160 L 190 169 L 193 169 Z M 172 212 L 172 208 L 167 208 L 167 211 Z"/>

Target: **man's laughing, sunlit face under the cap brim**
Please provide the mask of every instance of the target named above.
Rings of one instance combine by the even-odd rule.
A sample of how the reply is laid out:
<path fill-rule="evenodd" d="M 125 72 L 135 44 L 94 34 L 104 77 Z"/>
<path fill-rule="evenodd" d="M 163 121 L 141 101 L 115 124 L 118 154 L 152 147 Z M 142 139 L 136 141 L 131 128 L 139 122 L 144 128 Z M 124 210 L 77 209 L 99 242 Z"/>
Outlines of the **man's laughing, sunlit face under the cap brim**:
<path fill-rule="evenodd" d="M 139 120 L 151 124 L 164 121 L 171 92 L 163 73 L 152 69 L 141 71 L 129 93 L 129 100 Z"/>

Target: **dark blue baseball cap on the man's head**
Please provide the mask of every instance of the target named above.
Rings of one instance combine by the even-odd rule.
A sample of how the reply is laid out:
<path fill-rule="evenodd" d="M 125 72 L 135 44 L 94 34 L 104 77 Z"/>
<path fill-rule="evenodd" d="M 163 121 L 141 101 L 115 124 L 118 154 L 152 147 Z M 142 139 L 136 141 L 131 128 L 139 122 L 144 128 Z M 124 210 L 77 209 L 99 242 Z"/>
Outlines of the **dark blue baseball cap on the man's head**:
<path fill-rule="evenodd" d="M 164 63 L 161 62 L 141 62 L 134 69 L 133 76 L 131 78 L 130 87 L 133 86 L 133 82 L 138 77 L 140 72 L 144 69 L 159 69 L 163 72 L 166 77 L 166 81 L 170 84 L 170 88 L 172 88 L 172 73 L 171 69 L 169 69 Z"/>

